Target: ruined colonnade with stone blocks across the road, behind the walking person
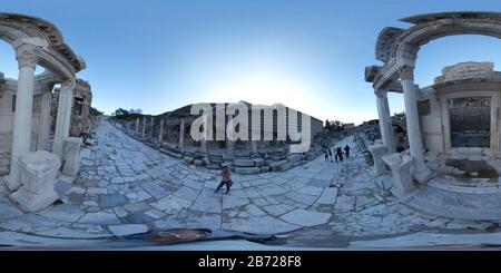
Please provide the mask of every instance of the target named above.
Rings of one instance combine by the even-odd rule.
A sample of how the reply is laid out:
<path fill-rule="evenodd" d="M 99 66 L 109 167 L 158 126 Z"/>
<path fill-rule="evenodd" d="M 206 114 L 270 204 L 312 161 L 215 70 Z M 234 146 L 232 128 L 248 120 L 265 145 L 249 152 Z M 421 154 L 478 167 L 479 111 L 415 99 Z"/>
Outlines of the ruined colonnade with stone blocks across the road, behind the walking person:
<path fill-rule="evenodd" d="M 252 105 L 240 101 L 249 108 Z M 229 104 L 225 104 L 228 107 Z M 284 125 L 294 120 L 301 127 L 302 119 L 293 119 L 291 115 L 299 115 L 292 108 L 285 106 L 259 106 L 261 114 L 253 116 L 248 113 L 249 136 L 253 134 L 253 120 L 261 125 L 262 135 L 271 134 L 271 140 L 229 140 L 227 133 L 217 140 L 194 140 L 190 136 L 193 123 L 200 115 L 191 115 L 193 105 L 188 105 L 163 114 L 160 116 L 141 116 L 135 120 L 120 121 L 120 127 L 130 136 L 143 142 L 149 143 L 165 154 L 183 159 L 188 164 L 206 166 L 212 169 L 219 169 L 222 163 L 227 163 L 236 173 L 258 174 L 275 170 L 286 170 L 304 164 L 315 158 L 322 153 L 321 137 L 323 123 L 316 118 L 311 118 L 311 135 L 313 143 L 306 153 L 291 153 L 289 146 L 294 143 L 289 135 L 279 139 L 279 118 L 275 113 L 273 118 L 266 119 L 263 111 L 276 111 L 277 107 L 284 107 L 289 113 L 284 116 Z M 214 120 L 218 116 L 216 105 L 213 104 Z M 294 113 L 294 114 L 292 114 Z M 226 128 L 230 123 L 233 115 L 223 116 L 223 123 Z M 216 134 L 216 124 L 213 124 L 213 134 Z M 292 126 L 292 125 L 289 125 Z M 261 136 L 259 136 L 261 137 Z"/>

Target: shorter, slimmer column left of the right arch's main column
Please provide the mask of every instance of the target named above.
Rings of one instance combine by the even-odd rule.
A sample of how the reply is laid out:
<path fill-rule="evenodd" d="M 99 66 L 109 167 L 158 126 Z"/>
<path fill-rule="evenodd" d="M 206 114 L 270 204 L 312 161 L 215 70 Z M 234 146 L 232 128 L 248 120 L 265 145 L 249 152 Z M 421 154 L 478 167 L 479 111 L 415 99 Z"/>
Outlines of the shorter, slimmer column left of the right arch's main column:
<path fill-rule="evenodd" d="M 377 90 L 375 95 L 377 97 L 377 115 L 380 118 L 380 130 L 383 145 L 387 149 L 387 154 L 396 152 L 395 139 L 393 137 L 392 117 L 390 116 L 390 106 L 387 104 L 386 91 Z"/>

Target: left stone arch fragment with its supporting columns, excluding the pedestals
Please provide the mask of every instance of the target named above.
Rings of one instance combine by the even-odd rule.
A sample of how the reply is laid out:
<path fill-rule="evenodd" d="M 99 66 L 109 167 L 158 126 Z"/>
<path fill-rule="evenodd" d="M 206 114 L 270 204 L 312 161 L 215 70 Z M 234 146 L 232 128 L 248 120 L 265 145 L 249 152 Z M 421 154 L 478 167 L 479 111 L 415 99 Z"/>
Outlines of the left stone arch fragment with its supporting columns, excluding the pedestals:
<path fill-rule="evenodd" d="M 0 13 L 0 39 L 12 46 L 19 65 L 11 167 L 10 174 L 6 178 L 7 187 L 13 191 L 20 186 L 18 159 L 21 155 L 30 152 L 35 82 L 40 80 L 38 82 L 48 86 L 50 86 L 49 84 L 53 86 L 56 81 L 61 84 L 52 150 L 59 158 L 62 158 L 63 139 L 69 136 L 76 74 L 82 70 L 86 64 L 65 43 L 62 35 L 52 23 L 39 18 Z M 35 68 L 37 65 L 50 72 L 36 78 Z M 50 94 L 51 89 L 46 89 L 49 91 L 45 90 L 45 94 Z M 50 107 L 50 99 L 45 101 L 45 107 Z M 45 109 L 45 113 L 47 113 L 47 109 Z M 50 110 L 48 113 L 50 115 Z M 50 126 L 48 123 L 46 125 Z"/>

